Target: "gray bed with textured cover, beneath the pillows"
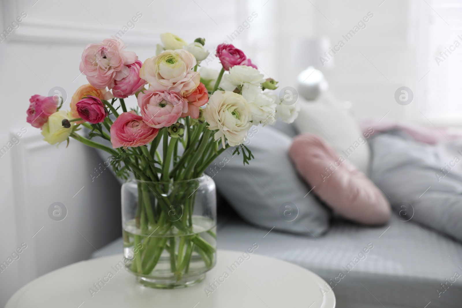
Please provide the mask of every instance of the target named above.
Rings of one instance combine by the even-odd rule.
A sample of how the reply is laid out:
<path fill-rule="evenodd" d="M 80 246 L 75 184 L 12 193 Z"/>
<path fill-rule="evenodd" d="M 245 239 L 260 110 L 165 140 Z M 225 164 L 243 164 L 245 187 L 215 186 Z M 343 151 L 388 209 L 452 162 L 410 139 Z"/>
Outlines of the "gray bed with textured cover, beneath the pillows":
<path fill-rule="evenodd" d="M 314 237 L 255 227 L 218 199 L 219 249 L 244 250 L 256 242 L 258 254 L 295 263 L 324 278 L 337 308 L 462 307 L 461 243 L 413 219 L 392 214 L 382 227 L 364 227 L 333 217 L 327 233 Z M 122 238 L 98 251 L 103 256 L 120 254 Z M 319 291 L 329 290 L 326 286 Z"/>

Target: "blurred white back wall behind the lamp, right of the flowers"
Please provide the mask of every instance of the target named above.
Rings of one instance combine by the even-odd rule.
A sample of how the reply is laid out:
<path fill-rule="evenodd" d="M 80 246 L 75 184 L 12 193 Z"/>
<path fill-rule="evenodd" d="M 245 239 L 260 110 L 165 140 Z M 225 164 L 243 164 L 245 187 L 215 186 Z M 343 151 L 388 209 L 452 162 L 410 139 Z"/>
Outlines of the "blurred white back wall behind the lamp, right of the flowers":
<path fill-rule="evenodd" d="M 342 37 L 367 15 L 373 17 L 346 42 Z M 423 93 L 428 71 L 422 54 L 422 13 L 435 14 L 425 2 L 416 0 L 312 0 L 280 1 L 278 19 L 278 75 L 289 85 L 304 67 L 294 68 L 290 58 L 294 43 L 300 38 L 328 36 L 332 46 L 340 40 L 345 46 L 334 55 L 334 68 L 321 69 L 330 91 L 343 101 L 352 102 L 357 120 L 383 117 L 422 123 L 431 126 L 425 117 Z M 425 15 L 425 16 L 426 16 Z M 438 16 L 437 16 L 438 18 Z M 328 50 L 326 50 L 328 51 Z M 375 66 L 375 67 L 374 67 Z M 396 103 L 397 88 L 413 90 L 413 103 Z M 430 117 L 430 115 L 427 115 Z"/>

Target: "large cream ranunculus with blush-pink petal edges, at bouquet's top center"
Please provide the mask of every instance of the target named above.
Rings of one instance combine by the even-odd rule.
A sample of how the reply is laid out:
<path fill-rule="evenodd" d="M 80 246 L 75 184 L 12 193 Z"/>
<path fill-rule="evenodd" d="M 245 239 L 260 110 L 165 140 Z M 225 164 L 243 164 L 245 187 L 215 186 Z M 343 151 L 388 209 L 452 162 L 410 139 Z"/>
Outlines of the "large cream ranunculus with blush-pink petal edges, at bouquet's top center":
<path fill-rule="evenodd" d="M 165 50 L 143 63 L 140 77 L 154 91 L 175 91 L 184 96 L 201 82 L 199 72 L 193 71 L 196 64 L 194 55 L 185 49 Z"/>

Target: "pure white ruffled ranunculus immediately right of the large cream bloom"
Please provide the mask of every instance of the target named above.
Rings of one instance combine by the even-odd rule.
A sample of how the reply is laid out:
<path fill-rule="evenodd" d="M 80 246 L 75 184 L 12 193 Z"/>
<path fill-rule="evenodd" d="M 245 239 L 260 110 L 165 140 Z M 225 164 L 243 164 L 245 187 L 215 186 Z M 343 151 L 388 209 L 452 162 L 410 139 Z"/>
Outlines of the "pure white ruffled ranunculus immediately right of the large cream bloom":
<path fill-rule="evenodd" d="M 249 104 L 250 112 L 252 113 L 253 125 L 274 124 L 276 115 L 276 103 L 274 97 L 268 96 L 267 93 L 261 91 L 261 87 L 245 83 L 242 86 L 242 96 Z M 278 98 L 279 100 L 279 98 Z"/>

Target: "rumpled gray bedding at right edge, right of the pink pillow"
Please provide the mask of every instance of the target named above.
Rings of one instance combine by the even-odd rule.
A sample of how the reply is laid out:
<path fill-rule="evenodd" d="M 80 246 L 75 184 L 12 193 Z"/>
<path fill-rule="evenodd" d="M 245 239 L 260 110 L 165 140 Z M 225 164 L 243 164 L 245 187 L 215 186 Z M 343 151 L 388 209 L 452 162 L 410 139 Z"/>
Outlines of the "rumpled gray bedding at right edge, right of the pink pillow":
<path fill-rule="evenodd" d="M 371 140 L 371 177 L 402 221 L 421 223 L 462 241 L 462 155 L 457 152 L 461 145 L 427 145 L 396 131 Z M 443 173 L 441 168 L 447 169 Z"/>

